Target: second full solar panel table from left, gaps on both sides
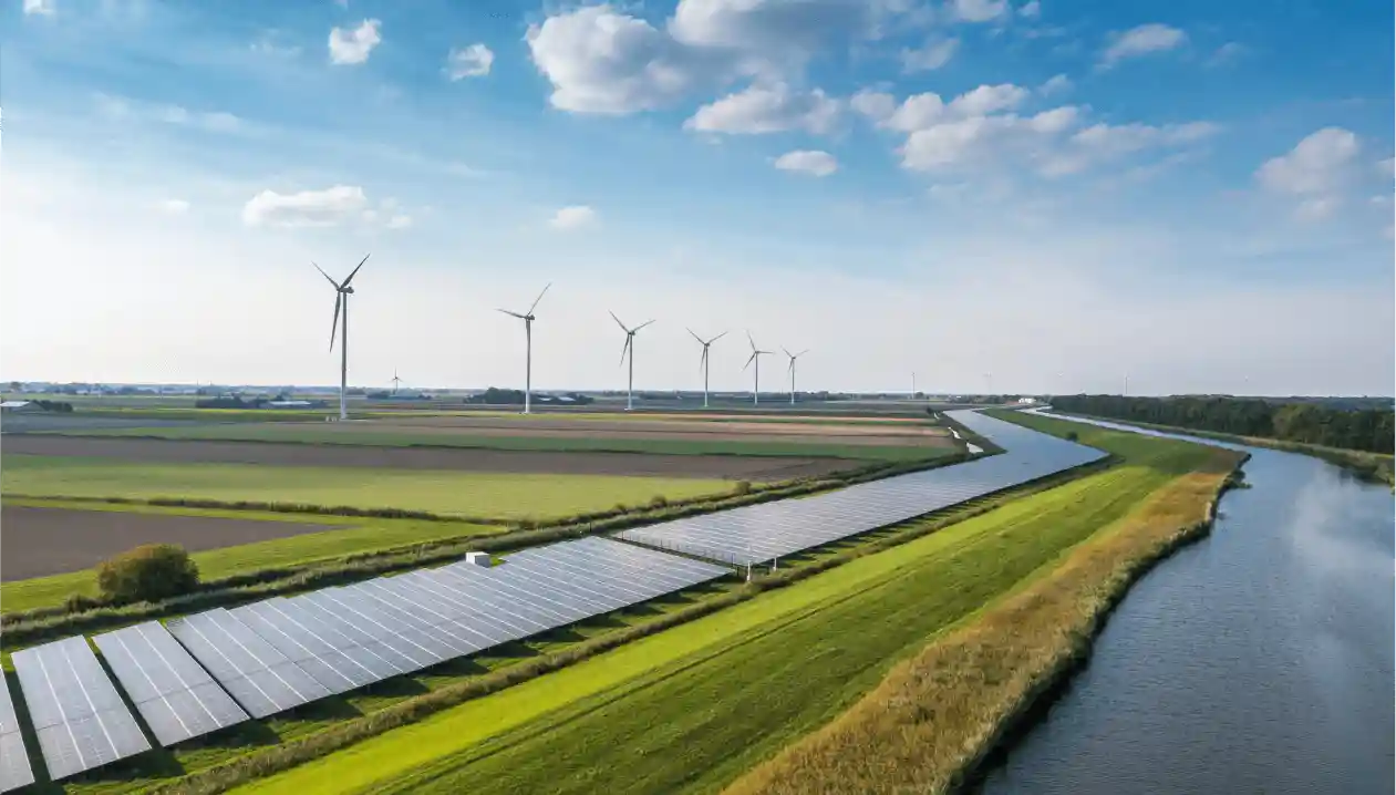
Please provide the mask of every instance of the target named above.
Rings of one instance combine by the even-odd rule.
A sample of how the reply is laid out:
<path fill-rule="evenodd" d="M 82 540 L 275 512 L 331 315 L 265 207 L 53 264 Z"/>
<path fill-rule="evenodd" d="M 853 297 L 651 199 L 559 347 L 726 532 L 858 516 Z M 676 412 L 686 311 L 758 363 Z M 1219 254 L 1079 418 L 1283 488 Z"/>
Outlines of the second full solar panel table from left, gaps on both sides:
<path fill-rule="evenodd" d="M 159 622 L 92 639 L 162 746 L 240 724 L 247 713 Z"/>

